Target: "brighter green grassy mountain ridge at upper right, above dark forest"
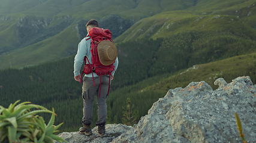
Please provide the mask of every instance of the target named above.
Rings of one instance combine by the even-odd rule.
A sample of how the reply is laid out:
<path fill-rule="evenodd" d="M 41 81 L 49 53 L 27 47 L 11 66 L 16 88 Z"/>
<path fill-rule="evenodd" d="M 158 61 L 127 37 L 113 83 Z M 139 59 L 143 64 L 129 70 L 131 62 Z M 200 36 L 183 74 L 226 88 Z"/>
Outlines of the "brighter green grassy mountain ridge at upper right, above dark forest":
<path fill-rule="evenodd" d="M 198 6 L 183 11 L 168 11 L 143 18 L 116 38 L 116 42 L 141 38 L 165 38 L 185 32 L 233 35 L 255 41 L 256 1 L 239 2 L 241 4 L 230 5 L 229 7 L 228 4 L 224 7 L 219 2 L 219 5 L 203 8 L 201 8 L 202 4 L 200 3 Z M 231 4 L 236 3 L 232 2 Z"/>

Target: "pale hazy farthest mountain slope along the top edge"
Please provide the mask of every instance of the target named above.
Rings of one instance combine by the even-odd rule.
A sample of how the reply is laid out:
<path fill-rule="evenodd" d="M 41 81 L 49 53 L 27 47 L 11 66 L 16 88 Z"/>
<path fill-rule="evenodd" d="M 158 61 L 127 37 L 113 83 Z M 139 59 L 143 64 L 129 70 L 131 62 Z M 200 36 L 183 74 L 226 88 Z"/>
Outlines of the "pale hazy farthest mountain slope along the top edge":
<path fill-rule="evenodd" d="M 101 18 L 109 14 L 140 19 L 161 11 L 182 10 L 195 1 L 174 0 L 1 0 L 1 14 L 73 15 L 80 18 Z"/>

